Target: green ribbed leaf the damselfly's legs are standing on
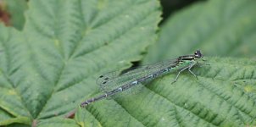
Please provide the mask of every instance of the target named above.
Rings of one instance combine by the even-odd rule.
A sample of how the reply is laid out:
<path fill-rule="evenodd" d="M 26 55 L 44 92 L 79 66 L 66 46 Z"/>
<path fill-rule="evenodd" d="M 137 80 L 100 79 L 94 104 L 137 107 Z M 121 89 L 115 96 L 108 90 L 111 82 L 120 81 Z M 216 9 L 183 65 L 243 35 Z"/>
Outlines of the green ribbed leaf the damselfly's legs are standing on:
<path fill-rule="evenodd" d="M 154 80 L 136 95 L 103 100 L 78 112 L 91 126 L 244 126 L 256 124 L 255 60 L 206 58 L 192 71 Z M 99 125 L 98 125 L 99 124 Z"/>

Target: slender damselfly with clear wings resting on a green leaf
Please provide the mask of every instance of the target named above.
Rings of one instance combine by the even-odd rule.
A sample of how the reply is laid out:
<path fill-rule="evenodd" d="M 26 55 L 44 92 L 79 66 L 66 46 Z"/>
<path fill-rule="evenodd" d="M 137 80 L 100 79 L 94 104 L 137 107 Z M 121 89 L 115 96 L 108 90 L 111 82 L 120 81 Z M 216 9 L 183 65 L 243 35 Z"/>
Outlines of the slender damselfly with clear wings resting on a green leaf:
<path fill-rule="evenodd" d="M 125 73 L 114 71 L 101 75 L 97 79 L 97 84 L 101 86 L 105 94 L 88 99 L 86 102 L 82 102 L 81 107 L 86 107 L 88 104 L 102 100 L 106 97 L 112 97 L 121 91 L 128 90 L 139 84 L 145 84 L 150 80 L 154 80 L 161 75 L 166 75 L 175 70 L 179 70 L 179 72 L 172 83 L 174 83 L 181 72 L 186 69 L 197 78 L 197 75 L 195 75 L 191 69 L 198 63 L 198 59 L 200 58 L 203 58 L 203 54 L 198 50 L 191 55 L 180 56 L 167 62 L 145 65 L 136 69 L 131 69 Z"/>

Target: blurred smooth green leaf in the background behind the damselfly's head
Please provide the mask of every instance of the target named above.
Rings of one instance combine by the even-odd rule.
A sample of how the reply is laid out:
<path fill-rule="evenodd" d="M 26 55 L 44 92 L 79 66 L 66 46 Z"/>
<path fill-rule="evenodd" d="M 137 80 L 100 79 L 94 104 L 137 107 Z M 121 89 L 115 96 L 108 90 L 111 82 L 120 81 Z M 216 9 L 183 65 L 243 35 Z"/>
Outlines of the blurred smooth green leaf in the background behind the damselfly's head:
<path fill-rule="evenodd" d="M 161 26 L 159 41 L 143 63 L 201 49 L 207 56 L 255 58 L 256 1 L 210 0 L 193 4 Z"/>

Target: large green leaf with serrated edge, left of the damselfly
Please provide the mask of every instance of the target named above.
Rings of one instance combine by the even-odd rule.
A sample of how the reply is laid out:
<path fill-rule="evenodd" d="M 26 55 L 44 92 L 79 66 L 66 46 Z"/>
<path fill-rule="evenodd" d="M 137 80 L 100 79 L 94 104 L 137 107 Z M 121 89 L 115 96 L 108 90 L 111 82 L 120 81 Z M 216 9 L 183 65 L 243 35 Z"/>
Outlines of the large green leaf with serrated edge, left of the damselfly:
<path fill-rule="evenodd" d="M 157 0 L 28 6 L 22 31 L 0 25 L 0 125 L 76 126 L 56 117 L 99 92 L 98 75 L 140 60 L 160 20 Z"/>

